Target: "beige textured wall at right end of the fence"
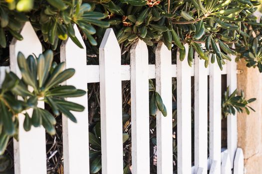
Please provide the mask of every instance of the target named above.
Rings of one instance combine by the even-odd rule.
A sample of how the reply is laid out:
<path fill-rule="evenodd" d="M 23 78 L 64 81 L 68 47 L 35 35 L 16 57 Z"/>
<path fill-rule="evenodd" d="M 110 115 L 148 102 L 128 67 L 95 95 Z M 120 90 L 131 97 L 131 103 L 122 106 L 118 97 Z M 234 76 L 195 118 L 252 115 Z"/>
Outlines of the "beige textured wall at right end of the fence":
<path fill-rule="evenodd" d="M 238 88 L 247 98 L 256 97 L 250 105 L 256 110 L 238 114 L 238 147 L 243 149 L 246 174 L 262 174 L 262 74 L 258 68 L 247 68 L 244 60 L 238 63 Z"/>

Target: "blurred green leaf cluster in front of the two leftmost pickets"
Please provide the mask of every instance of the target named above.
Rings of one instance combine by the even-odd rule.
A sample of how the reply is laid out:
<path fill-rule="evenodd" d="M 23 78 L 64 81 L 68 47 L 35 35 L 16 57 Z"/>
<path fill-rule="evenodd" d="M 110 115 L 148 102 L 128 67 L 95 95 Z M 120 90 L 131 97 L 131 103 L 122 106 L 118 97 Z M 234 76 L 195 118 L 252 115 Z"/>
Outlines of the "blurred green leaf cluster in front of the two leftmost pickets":
<path fill-rule="evenodd" d="M 75 70 L 64 70 L 65 63 L 57 65 L 53 62 L 52 51 L 46 51 L 38 58 L 30 55 L 27 59 L 19 52 L 17 62 L 22 78 L 19 79 L 12 72 L 6 73 L 0 89 L 0 155 L 10 137 L 18 140 L 18 114 L 24 115 L 25 131 L 29 131 L 31 126 L 42 125 L 50 135 L 54 135 L 56 120 L 53 114 L 58 116 L 61 112 L 76 122 L 70 111 L 84 110 L 84 106 L 65 100 L 65 97 L 82 96 L 86 91 L 59 85 L 71 78 Z M 28 87 L 32 90 L 28 90 Z M 48 103 L 53 113 L 38 107 L 38 102 Z M 33 109 L 32 117 L 27 113 L 29 108 Z"/>

